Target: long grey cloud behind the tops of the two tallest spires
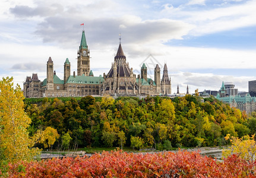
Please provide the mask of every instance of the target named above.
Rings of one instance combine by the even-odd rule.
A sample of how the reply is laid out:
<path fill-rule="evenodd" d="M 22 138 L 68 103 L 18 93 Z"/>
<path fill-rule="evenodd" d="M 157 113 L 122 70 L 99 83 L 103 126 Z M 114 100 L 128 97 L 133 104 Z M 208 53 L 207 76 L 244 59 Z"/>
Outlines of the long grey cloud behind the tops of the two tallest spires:
<path fill-rule="evenodd" d="M 61 23 L 60 23 L 61 22 Z M 56 42 L 61 45 L 77 43 L 77 31 L 80 32 L 77 17 L 48 17 L 39 24 L 36 34 L 43 42 Z M 77 27 L 75 27 L 77 26 Z M 172 39 L 182 39 L 192 26 L 182 21 L 159 19 L 140 20 L 135 16 L 120 18 L 87 18 L 85 20 L 87 41 L 113 45 L 118 42 L 121 33 L 125 43 L 163 43 Z M 115 41 L 116 39 L 116 41 Z"/>

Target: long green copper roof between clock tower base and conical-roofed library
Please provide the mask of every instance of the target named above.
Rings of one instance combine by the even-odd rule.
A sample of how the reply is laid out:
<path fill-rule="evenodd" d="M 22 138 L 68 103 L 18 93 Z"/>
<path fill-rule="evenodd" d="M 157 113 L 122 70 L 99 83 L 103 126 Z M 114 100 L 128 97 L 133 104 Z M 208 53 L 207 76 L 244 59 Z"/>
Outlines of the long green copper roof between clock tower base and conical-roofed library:
<path fill-rule="evenodd" d="M 103 77 L 92 76 L 73 76 L 70 75 L 66 83 L 68 84 L 100 84 L 104 81 Z"/>

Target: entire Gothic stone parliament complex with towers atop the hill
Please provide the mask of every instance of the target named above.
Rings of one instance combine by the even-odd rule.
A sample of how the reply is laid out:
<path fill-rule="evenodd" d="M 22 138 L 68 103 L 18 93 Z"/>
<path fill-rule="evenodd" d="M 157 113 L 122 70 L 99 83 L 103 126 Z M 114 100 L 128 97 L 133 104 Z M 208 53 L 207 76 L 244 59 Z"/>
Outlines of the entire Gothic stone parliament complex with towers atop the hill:
<path fill-rule="evenodd" d="M 47 61 L 47 75 L 40 81 L 37 74 L 27 77 L 24 82 L 24 96 L 35 97 L 77 97 L 77 96 L 151 96 L 171 94 L 171 81 L 167 66 L 163 68 L 162 80 L 160 68 L 154 68 L 154 79 L 147 78 L 147 66 L 143 63 L 141 74 L 133 73 L 129 67 L 124 50 L 119 43 L 118 51 L 108 74 L 94 77 L 90 69 L 90 50 L 86 35 L 82 33 L 81 43 L 77 52 L 77 75 L 71 74 L 71 63 L 68 58 L 64 62 L 64 79 L 61 80 L 54 71 L 53 60 Z"/>

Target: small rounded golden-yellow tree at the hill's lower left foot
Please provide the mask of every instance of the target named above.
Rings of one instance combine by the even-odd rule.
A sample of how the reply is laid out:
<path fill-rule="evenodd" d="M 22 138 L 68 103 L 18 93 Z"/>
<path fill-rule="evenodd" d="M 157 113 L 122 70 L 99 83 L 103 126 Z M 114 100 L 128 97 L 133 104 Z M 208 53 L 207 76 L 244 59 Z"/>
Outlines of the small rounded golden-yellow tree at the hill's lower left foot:
<path fill-rule="evenodd" d="M 43 144 L 45 148 L 52 148 L 52 145 L 55 143 L 56 139 L 59 138 L 59 134 L 56 129 L 51 127 L 47 127 L 45 131 L 43 131 L 42 139 L 40 143 Z"/>

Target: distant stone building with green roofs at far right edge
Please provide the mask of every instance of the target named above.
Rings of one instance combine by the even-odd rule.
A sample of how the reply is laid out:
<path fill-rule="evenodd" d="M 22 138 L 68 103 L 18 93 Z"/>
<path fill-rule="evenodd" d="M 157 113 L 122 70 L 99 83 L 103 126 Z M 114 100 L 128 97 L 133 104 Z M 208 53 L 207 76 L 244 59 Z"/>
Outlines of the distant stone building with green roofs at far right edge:
<path fill-rule="evenodd" d="M 235 87 L 235 85 L 231 86 L 231 88 L 233 87 Z M 256 97 L 250 96 L 249 93 L 247 93 L 246 95 L 245 93 L 242 93 L 242 96 L 239 94 L 235 96 L 228 95 L 226 94 L 226 88 L 223 82 L 222 82 L 221 90 L 217 94 L 216 98 L 220 101 L 223 101 L 223 103 L 229 104 L 230 107 L 236 107 L 241 111 L 244 110 L 247 114 L 254 112 L 256 108 Z"/>

